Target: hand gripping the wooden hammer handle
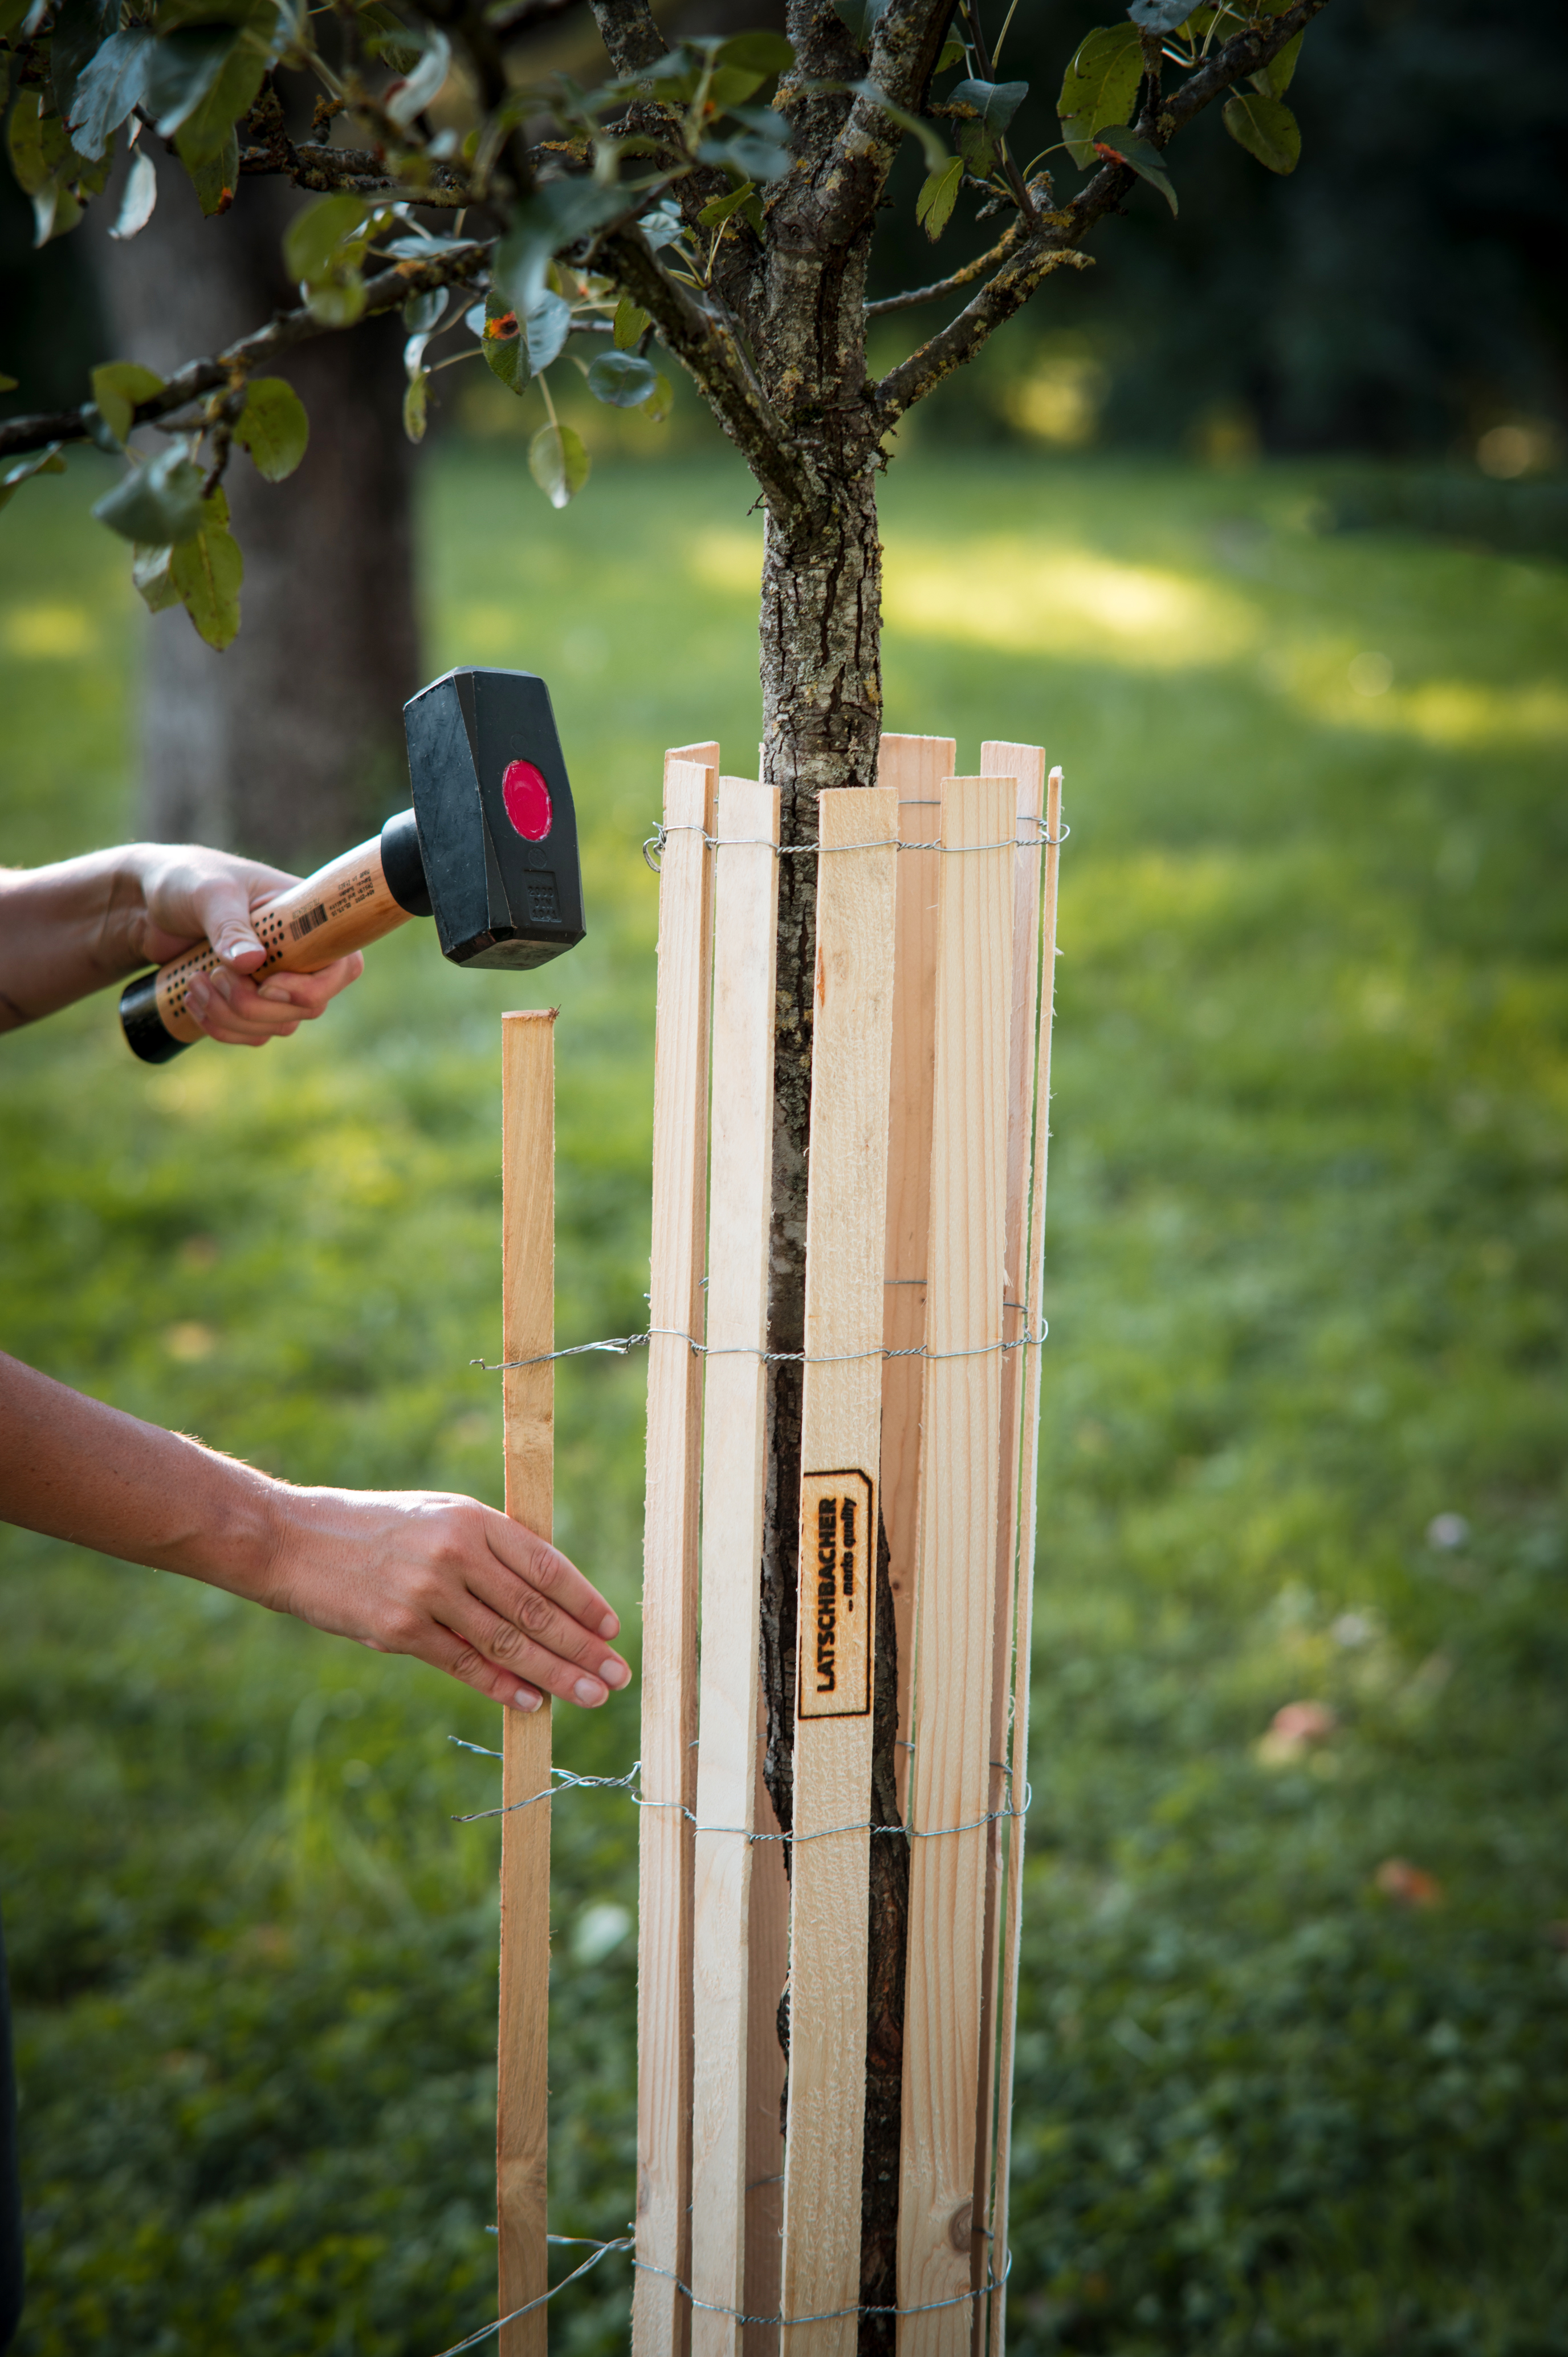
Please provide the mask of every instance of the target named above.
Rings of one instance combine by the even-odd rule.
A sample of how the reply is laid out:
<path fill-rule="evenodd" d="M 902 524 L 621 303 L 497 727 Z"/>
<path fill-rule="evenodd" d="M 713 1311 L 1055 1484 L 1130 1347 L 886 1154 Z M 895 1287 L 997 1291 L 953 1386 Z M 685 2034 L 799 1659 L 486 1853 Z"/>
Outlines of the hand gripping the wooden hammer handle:
<path fill-rule="evenodd" d="M 212 943 L 222 964 L 210 978 L 191 983 L 186 1004 L 205 1035 L 224 1047 L 264 1047 L 266 1039 L 292 1037 L 365 971 L 354 950 L 321 973 L 269 973 L 259 985 L 250 981 L 266 959 L 252 917 L 297 882 L 281 867 L 243 860 L 231 851 L 207 851 L 200 844 L 149 846 L 137 952 L 163 966 L 198 940 Z"/>

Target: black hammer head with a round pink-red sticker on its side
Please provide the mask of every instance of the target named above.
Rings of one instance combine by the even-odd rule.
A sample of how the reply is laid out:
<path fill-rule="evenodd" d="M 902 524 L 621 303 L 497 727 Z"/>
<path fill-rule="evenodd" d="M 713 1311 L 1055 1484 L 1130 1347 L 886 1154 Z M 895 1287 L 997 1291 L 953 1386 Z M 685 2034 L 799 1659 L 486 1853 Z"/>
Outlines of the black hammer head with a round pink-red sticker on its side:
<path fill-rule="evenodd" d="M 582 924 L 578 813 L 533 672 L 448 672 L 403 705 L 424 886 L 455 966 L 542 966 Z"/>

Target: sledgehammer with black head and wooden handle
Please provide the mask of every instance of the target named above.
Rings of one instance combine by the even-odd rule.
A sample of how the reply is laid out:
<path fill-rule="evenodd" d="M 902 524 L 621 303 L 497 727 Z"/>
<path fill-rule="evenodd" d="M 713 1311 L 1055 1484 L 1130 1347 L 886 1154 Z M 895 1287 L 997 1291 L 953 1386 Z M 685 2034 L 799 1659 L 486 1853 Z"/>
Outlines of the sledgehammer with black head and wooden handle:
<path fill-rule="evenodd" d="M 403 705 L 413 811 L 304 884 L 252 910 L 266 950 L 252 981 L 318 973 L 410 917 L 434 917 L 455 966 L 542 966 L 585 933 L 578 818 L 549 688 L 533 672 L 448 672 Z M 191 981 L 198 943 L 120 992 L 125 1037 L 167 1063 L 203 1037 Z"/>

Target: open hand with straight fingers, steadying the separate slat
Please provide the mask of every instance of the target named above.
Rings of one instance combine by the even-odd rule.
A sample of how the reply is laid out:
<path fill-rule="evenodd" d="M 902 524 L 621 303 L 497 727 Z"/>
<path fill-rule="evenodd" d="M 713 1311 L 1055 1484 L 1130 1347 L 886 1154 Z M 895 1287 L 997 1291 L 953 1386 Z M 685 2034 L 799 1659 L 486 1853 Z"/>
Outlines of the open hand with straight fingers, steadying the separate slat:
<path fill-rule="evenodd" d="M 373 1652 L 413 1652 L 519 1711 L 540 1692 L 594 1709 L 632 1676 L 599 1589 L 472 1497 L 281 1490 L 266 1579 L 245 1593 Z"/>

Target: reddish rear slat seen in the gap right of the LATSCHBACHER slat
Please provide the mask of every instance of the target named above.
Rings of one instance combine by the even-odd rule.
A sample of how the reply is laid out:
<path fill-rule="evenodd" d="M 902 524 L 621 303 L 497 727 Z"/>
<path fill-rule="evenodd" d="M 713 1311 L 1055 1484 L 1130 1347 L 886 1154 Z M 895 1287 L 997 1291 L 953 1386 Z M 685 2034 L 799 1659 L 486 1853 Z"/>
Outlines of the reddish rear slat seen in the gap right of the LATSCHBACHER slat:
<path fill-rule="evenodd" d="M 898 797 L 898 839 L 936 841 L 941 783 L 953 775 L 953 738 L 884 735 L 877 780 Z M 936 851 L 898 853 L 894 955 L 894 1065 L 887 1150 L 884 1346 L 917 1348 L 927 1325 L 927 1230 L 931 1219 L 931 1080 L 936 1070 Z M 887 1525 L 898 1631 L 898 1805 L 908 1796 L 910 1666 L 915 1655 L 915 1556 L 920 1553 L 922 1362 L 882 1369 L 882 1520 Z"/>

